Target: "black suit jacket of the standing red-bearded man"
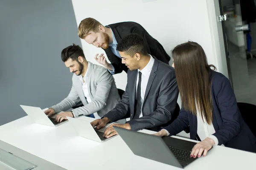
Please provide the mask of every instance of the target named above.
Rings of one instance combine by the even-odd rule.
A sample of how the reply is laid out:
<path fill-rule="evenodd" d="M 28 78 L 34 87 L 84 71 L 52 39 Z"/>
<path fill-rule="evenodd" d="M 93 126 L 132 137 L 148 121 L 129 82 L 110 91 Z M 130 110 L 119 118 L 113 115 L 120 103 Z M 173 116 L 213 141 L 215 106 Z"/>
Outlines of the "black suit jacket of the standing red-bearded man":
<path fill-rule="evenodd" d="M 112 29 L 117 43 L 121 41 L 122 37 L 125 37 L 130 33 L 137 33 L 143 37 L 147 46 L 148 54 L 151 54 L 158 60 L 169 64 L 170 57 L 163 49 L 163 46 L 156 39 L 151 37 L 151 35 L 149 35 L 148 32 L 140 24 L 134 22 L 123 22 L 111 24 L 108 26 Z M 128 68 L 125 66 L 125 64 L 122 64 L 122 59 L 113 54 L 110 47 L 104 49 L 104 51 L 106 52 L 109 61 L 115 68 L 115 74 L 121 73 L 123 70 L 127 73 Z"/>

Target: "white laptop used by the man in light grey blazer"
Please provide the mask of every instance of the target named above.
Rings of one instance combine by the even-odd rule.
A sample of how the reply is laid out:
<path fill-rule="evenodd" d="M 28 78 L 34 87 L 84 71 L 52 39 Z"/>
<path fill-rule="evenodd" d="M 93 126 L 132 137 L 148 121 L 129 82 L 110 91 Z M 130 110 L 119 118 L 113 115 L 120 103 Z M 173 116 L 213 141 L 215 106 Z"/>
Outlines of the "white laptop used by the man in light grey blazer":
<path fill-rule="evenodd" d="M 27 115 L 29 115 L 35 121 L 35 123 L 38 123 L 41 125 L 56 127 L 67 122 L 67 119 L 62 120 L 61 122 L 56 122 L 55 118 L 48 117 L 42 111 L 41 108 L 25 106 L 25 105 L 20 105 L 20 107 L 27 113 Z"/>

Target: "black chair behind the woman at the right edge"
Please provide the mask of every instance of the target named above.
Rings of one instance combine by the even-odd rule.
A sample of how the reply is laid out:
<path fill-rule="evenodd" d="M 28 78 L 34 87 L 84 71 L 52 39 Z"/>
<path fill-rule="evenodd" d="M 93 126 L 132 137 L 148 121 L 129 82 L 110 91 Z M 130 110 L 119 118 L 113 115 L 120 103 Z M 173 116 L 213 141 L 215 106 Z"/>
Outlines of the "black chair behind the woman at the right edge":
<path fill-rule="evenodd" d="M 241 116 L 244 119 L 244 122 L 249 126 L 254 136 L 256 136 L 256 105 L 238 102 L 237 106 L 241 112 Z"/>

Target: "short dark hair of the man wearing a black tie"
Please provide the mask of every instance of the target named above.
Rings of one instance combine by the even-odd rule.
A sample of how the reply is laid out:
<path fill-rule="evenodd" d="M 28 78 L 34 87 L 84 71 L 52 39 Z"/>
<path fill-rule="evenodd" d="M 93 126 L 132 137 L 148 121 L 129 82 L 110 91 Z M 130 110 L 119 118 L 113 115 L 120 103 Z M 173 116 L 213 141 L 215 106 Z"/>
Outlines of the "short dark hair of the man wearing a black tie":
<path fill-rule="evenodd" d="M 116 46 L 117 51 L 125 52 L 125 54 L 133 57 L 135 53 L 148 55 L 146 43 L 139 34 L 128 34 L 122 38 Z"/>

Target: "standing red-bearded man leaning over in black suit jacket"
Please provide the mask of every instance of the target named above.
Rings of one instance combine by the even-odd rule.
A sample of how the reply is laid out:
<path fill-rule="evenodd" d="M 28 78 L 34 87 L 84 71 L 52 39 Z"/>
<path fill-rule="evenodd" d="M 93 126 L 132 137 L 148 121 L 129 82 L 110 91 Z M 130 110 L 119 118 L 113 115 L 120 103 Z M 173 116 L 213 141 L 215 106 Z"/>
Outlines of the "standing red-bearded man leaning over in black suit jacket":
<path fill-rule="evenodd" d="M 158 60 L 169 64 L 170 57 L 163 49 L 163 46 L 138 23 L 123 22 L 102 26 L 93 18 L 85 18 L 81 21 L 78 28 L 78 34 L 81 39 L 96 47 L 102 48 L 111 63 L 101 54 L 96 54 L 95 59 L 102 64 L 111 74 L 127 73 L 128 68 L 122 64 L 122 59 L 116 46 L 127 34 L 136 33 L 143 37 L 148 54 L 155 56 Z"/>

